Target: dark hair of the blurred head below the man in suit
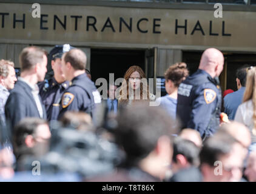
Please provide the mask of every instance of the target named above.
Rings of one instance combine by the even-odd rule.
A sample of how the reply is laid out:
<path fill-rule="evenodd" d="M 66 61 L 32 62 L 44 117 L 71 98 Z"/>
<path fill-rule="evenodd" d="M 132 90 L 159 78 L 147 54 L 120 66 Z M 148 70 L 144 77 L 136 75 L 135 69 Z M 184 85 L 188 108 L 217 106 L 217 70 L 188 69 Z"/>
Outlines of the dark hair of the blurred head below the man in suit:
<path fill-rule="evenodd" d="M 13 145 L 24 146 L 25 138 L 34 135 L 39 125 L 47 124 L 47 121 L 40 118 L 24 118 L 14 127 Z"/>

